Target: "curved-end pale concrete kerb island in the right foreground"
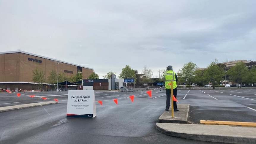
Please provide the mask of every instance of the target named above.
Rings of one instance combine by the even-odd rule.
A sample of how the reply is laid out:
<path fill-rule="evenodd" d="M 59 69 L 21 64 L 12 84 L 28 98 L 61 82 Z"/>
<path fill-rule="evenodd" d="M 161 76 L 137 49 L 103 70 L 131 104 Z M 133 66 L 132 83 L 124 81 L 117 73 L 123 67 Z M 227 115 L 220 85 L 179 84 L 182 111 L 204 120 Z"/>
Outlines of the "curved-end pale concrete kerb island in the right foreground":
<path fill-rule="evenodd" d="M 157 123 L 156 128 L 167 135 L 190 140 L 232 144 L 256 143 L 254 127 Z"/>

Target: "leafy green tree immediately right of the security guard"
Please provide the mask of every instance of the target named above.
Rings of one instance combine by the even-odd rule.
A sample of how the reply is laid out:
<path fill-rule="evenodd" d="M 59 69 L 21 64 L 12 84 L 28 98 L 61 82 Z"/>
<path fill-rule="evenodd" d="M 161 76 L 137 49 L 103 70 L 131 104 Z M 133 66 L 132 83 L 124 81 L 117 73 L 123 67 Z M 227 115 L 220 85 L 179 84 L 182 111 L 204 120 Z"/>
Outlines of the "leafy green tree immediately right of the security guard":
<path fill-rule="evenodd" d="M 189 89 L 190 85 L 192 83 L 192 81 L 195 78 L 195 71 L 196 69 L 198 69 L 198 67 L 196 66 L 195 63 L 193 63 L 192 61 L 184 64 L 184 66 L 179 70 L 179 72 L 177 73 L 177 75 L 179 77 L 181 77 L 182 80 L 187 81 L 189 84 Z"/>

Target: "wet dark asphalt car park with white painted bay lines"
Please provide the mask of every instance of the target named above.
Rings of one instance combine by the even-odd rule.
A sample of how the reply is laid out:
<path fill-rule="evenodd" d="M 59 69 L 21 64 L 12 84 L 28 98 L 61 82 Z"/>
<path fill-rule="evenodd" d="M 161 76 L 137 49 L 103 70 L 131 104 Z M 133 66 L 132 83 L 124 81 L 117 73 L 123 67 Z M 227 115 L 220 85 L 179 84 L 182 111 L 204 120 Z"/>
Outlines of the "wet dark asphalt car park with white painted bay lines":
<path fill-rule="evenodd" d="M 148 144 L 170 143 L 171 140 L 173 143 L 204 143 L 168 137 L 155 128 L 158 118 L 165 110 L 164 90 L 152 91 L 152 97 L 149 97 L 147 90 L 95 91 L 97 116 L 93 119 L 66 118 L 67 94 L 21 92 L 18 97 L 15 93 L 0 93 L 1 107 L 54 99 L 59 102 L 1 112 L 0 142 Z M 129 98 L 131 95 L 134 95 L 134 102 Z M 118 99 L 118 105 L 113 99 Z M 198 124 L 200 120 L 255 122 L 255 88 L 178 88 L 177 99 L 177 105 L 190 104 L 190 123 Z M 102 101 L 102 105 L 97 101 Z"/>

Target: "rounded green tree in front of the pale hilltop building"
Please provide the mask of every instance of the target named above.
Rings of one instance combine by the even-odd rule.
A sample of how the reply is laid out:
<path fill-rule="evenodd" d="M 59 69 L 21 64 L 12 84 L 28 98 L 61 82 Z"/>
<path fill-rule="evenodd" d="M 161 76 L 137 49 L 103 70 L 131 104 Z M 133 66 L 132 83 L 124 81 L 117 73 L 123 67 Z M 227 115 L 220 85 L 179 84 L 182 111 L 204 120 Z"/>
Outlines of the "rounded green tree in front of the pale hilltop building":
<path fill-rule="evenodd" d="M 227 73 L 230 75 L 230 79 L 237 83 L 237 88 L 239 88 L 239 84 L 241 84 L 241 82 L 245 81 L 247 72 L 248 68 L 242 61 L 236 63 L 235 66 L 231 67 L 227 71 Z"/>

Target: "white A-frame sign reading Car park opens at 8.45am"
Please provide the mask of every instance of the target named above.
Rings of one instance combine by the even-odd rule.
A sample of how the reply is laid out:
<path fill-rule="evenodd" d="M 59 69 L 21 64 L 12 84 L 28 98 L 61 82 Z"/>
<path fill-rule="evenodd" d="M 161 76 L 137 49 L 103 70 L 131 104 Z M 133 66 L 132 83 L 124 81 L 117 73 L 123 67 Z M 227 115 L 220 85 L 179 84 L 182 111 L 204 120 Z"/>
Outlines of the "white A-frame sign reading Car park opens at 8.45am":
<path fill-rule="evenodd" d="M 95 116 L 94 90 L 68 91 L 67 118 L 94 118 Z"/>

